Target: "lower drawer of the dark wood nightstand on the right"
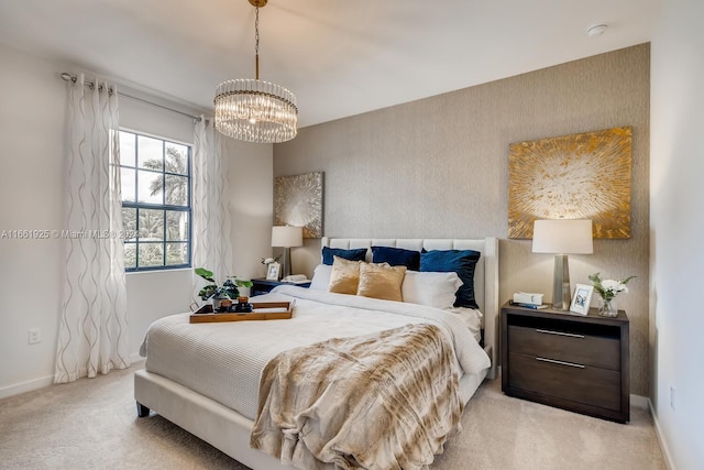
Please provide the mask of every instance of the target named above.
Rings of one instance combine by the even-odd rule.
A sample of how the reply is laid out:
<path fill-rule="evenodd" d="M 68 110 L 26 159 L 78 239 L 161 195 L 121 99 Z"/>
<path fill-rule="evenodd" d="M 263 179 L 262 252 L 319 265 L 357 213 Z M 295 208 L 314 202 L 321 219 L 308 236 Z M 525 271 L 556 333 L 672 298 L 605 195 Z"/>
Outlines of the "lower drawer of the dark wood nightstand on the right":
<path fill-rule="evenodd" d="M 622 378 L 618 371 L 578 368 L 515 353 L 509 354 L 508 361 L 512 389 L 620 411 Z"/>

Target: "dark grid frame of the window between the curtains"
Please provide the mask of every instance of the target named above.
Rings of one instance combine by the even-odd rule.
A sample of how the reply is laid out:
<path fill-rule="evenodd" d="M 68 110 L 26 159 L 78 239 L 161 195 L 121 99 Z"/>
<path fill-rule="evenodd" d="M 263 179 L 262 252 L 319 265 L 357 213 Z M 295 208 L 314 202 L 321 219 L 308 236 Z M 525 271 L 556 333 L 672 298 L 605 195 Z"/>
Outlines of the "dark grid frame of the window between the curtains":
<path fill-rule="evenodd" d="M 124 133 L 129 133 L 132 134 L 134 138 L 134 153 L 131 155 L 131 157 L 134 157 L 134 161 L 132 162 L 131 165 L 125 165 L 124 164 L 124 160 L 123 160 L 123 153 L 122 153 L 122 149 L 120 149 L 120 172 L 122 172 L 122 170 L 131 170 L 134 172 L 134 193 L 131 195 L 131 197 L 134 198 L 134 200 L 132 201 L 128 201 L 124 200 L 124 194 L 121 194 L 122 197 L 122 201 L 121 201 L 121 207 L 123 209 L 135 209 L 135 230 L 136 230 L 136 238 L 134 239 L 134 241 L 130 241 L 128 239 L 123 240 L 123 250 L 127 249 L 127 247 L 133 245 L 134 247 L 134 253 L 135 253 L 135 265 L 134 266 L 127 266 L 124 267 L 125 273 L 141 273 L 141 272 L 155 272 L 155 271 L 173 271 L 173 270 L 183 270 L 183 269 L 190 269 L 193 267 L 193 144 L 191 143 L 187 143 L 187 142 L 180 142 L 174 139 L 168 139 L 168 138 L 164 138 L 161 135 L 155 135 L 155 134 L 150 134 L 146 132 L 142 132 L 142 131 L 136 131 L 133 129 L 129 129 L 129 128 L 123 128 L 120 127 L 119 129 L 120 133 L 124 132 Z M 139 155 L 140 155 L 140 149 L 139 149 L 139 139 L 140 136 L 142 138 L 146 138 L 146 139 L 154 139 L 154 140 L 158 140 L 161 141 L 162 144 L 162 170 L 153 170 L 153 168 L 146 168 L 146 167 L 140 167 L 139 165 Z M 183 145 L 187 149 L 187 154 L 186 154 L 186 173 L 185 174 L 180 174 L 180 173 L 173 173 L 166 170 L 166 147 L 167 144 L 176 144 L 176 145 Z M 161 177 L 163 178 L 163 190 L 162 190 L 162 204 L 154 204 L 154 203 L 141 203 L 140 199 L 140 187 L 139 187 L 139 172 L 148 172 L 148 173 L 154 173 L 154 174 L 158 174 L 161 175 Z M 185 206 L 178 206 L 178 205 L 174 205 L 174 204 L 167 204 L 166 203 L 166 177 L 167 176 L 177 176 L 177 177 L 185 177 L 187 181 L 187 195 L 186 195 L 186 205 Z M 120 183 L 120 190 L 122 193 L 122 178 L 121 178 L 121 183 Z M 139 212 L 140 210 L 158 210 L 163 212 L 163 217 L 164 217 L 164 227 L 162 228 L 162 240 L 160 241 L 140 241 L 140 216 Z M 187 231 L 187 240 L 169 240 L 168 239 L 168 212 L 185 212 L 187 214 L 188 217 L 188 231 Z M 123 226 L 124 226 L 124 218 L 122 219 L 123 221 Z M 124 227 L 123 227 L 124 229 Z M 127 229 L 125 229 L 127 230 Z M 173 243 L 179 243 L 179 244 L 185 244 L 186 249 L 187 249 L 187 261 L 186 263 L 180 263 L 180 264 L 166 264 L 167 262 L 167 245 L 168 244 L 173 244 Z M 161 245 L 162 247 L 162 252 L 164 253 L 164 259 L 163 259 L 163 264 L 161 265 L 148 265 L 148 266 L 141 266 L 140 265 L 140 245 L 147 245 L 147 244 L 156 244 L 156 245 Z"/>

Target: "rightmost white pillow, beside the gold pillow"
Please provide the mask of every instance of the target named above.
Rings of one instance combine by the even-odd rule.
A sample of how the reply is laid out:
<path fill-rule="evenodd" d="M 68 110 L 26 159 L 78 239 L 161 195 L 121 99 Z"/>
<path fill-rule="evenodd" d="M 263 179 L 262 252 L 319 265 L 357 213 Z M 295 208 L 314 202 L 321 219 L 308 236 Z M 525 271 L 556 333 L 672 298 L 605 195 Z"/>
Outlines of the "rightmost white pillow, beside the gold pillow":
<path fill-rule="evenodd" d="M 406 271 L 402 295 L 404 302 L 441 309 L 451 308 L 462 285 L 458 273 Z"/>

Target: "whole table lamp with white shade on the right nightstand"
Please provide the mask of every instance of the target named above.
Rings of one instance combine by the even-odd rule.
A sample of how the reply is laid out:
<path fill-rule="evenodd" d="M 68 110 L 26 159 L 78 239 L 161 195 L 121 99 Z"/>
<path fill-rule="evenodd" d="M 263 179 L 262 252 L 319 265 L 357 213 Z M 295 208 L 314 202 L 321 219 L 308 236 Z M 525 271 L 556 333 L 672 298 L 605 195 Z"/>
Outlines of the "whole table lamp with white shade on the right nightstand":
<path fill-rule="evenodd" d="M 569 310 L 570 267 L 568 254 L 594 252 L 591 220 L 554 219 L 536 220 L 532 229 L 532 252 L 554 253 L 552 278 L 552 308 Z"/>

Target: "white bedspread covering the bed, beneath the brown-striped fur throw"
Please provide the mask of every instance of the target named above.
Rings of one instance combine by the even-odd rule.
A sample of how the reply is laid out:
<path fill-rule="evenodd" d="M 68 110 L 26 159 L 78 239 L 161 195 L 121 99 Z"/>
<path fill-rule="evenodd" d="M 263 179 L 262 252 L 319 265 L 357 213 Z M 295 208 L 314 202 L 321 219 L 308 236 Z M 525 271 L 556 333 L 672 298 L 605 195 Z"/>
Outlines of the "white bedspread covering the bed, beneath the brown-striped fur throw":
<path fill-rule="evenodd" d="M 490 359 L 457 316 L 414 304 L 280 286 L 260 300 L 296 299 L 289 320 L 189 324 L 188 314 L 161 318 L 147 331 L 145 368 L 254 419 L 267 362 L 282 351 L 331 338 L 352 337 L 416 323 L 441 327 L 462 373 L 477 373 Z"/>

